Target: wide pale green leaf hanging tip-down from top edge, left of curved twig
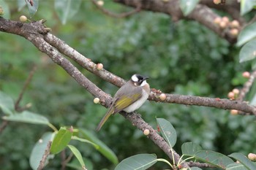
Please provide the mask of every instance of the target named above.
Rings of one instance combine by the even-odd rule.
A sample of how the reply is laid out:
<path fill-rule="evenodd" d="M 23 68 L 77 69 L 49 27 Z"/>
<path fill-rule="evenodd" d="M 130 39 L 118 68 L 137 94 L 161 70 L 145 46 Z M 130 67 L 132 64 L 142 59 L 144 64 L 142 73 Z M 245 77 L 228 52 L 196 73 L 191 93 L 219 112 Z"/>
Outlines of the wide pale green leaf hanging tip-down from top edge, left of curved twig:
<path fill-rule="evenodd" d="M 81 0 L 55 0 L 54 7 L 61 23 L 65 24 L 68 19 L 72 18 L 80 8 Z"/>

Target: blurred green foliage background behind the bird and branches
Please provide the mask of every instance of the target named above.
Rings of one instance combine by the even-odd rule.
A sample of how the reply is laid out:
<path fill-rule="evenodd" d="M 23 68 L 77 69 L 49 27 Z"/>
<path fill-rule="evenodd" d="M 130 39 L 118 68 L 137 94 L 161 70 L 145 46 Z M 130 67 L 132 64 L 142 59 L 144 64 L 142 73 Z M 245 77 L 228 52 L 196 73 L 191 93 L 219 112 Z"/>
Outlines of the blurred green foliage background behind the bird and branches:
<path fill-rule="evenodd" d="M 151 88 L 217 98 L 227 98 L 230 90 L 246 81 L 241 73 L 249 71 L 249 66 L 238 63 L 238 49 L 195 21 L 173 23 L 167 15 L 154 12 L 110 18 L 90 1 L 83 1 L 75 17 L 61 25 L 54 2 L 39 2 L 38 12 L 30 20 L 47 20 L 45 24 L 53 29 L 52 34 L 126 80 L 134 73 L 146 74 L 151 77 L 148 80 Z M 10 2 L 9 7 L 12 20 L 29 15 L 26 8 L 18 12 L 15 3 Z M 112 1 L 105 1 L 105 7 L 116 12 L 130 10 Z M 21 105 L 31 103 L 33 112 L 45 115 L 56 127 L 73 125 L 88 129 L 116 153 L 119 161 L 138 153 L 153 152 L 158 158 L 167 158 L 141 131 L 119 115 L 111 117 L 96 133 L 97 123 L 107 109 L 94 104 L 90 93 L 28 40 L 0 32 L 0 41 L 0 90 L 4 93 L 18 98 L 26 77 L 32 67 L 37 66 Z M 78 68 L 107 93 L 113 95 L 118 89 Z M 222 109 L 149 101 L 139 113 L 156 129 L 155 117 L 169 120 L 178 134 L 174 148 L 178 152 L 184 142 L 195 142 L 206 150 L 226 155 L 256 152 L 256 128 L 250 116 L 234 116 Z M 43 125 L 10 123 L 0 138 L 1 169 L 30 169 L 31 149 L 49 130 Z M 76 147 L 94 169 L 113 169 L 113 164 L 90 145 L 79 143 Z M 57 156 L 47 169 L 60 169 L 60 161 Z M 164 169 L 165 165 L 154 166 L 159 167 Z"/>

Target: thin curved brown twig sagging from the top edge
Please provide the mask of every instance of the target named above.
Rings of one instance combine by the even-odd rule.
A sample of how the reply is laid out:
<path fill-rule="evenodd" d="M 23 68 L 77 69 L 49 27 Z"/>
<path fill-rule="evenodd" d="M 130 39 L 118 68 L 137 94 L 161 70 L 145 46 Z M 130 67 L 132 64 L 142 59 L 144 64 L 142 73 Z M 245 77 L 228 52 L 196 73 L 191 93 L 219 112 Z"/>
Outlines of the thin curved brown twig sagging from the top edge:
<path fill-rule="evenodd" d="M 100 9 L 103 13 L 105 13 L 105 15 L 109 15 L 110 17 L 113 17 L 113 18 L 126 18 L 130 15 L 133 15 L 137 12 L 140 12 L 140 4 L 138 4 L 138 6 L 132 10 L 132 11 L 129 11 L 129 12 L 123 12 L 121 14 L 116 14 L 114 12 L 110 12 L 108 9 L 105 9 L 104 7 L 100 6 L 96 0 L 91 0 L 92 3 L 98 8 Z"/>

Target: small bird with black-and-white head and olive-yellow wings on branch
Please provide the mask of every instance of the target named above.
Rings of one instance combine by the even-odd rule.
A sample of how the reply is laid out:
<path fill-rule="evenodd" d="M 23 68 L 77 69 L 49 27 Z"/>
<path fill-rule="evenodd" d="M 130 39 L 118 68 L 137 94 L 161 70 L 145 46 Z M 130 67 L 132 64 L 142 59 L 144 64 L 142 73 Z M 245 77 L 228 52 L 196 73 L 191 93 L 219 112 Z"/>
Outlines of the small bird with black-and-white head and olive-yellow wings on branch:
<path fill-rule="evenodd" d="M 147 100 L 150 93 L 150 86 L 146 82 L 149 77 L 133 74 L 131 79 L 118 89 L 112 99 L 112 103 L 108 112 L 99 122 L 97 131 L 102 128 L 102 125 L 108 120 L 110 115 L 115 115 L 118 112 L 134 112 L 139 109 Z"/>

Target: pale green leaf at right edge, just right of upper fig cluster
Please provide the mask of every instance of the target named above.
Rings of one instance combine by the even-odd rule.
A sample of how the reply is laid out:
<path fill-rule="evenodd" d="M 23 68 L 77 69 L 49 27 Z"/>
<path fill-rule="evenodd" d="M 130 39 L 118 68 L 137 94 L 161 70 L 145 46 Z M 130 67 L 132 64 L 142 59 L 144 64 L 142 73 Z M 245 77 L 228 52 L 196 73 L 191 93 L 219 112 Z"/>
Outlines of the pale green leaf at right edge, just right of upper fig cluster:
<path fill-rule="evenodd" d="M 244 45 L 249 40 L 254 39 L 256 37 L 256 23 L 252 23 L 249 26 L 246 26 L 242 29 L 242 31 L 238 35 L 238 40 L 236 45 L 240 47 Z"/>

